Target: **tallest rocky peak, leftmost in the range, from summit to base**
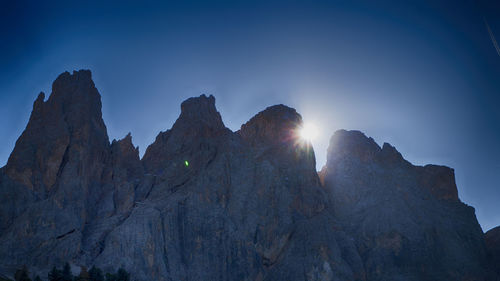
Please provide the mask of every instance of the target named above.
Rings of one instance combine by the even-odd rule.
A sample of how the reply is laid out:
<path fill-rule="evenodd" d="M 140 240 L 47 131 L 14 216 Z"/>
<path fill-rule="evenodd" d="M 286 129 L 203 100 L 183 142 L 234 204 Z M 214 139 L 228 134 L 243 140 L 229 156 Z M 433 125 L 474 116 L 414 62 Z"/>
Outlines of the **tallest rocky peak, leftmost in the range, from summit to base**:
<path fill-rule="evenodd" d="M 3 169 L 3 268 L 47 269 L 96 247 L 86 245 L 85 233 L 95 222 L 131 207 L 133 199 L 125 199 L 134 194 L 133 187 L 125 188 L 133 185 L 130 167 L 142 177 L 140 162 L 113 150 L 90 71 L 61 74 L 48 100 L 43 93 L 36 99 Z"/>

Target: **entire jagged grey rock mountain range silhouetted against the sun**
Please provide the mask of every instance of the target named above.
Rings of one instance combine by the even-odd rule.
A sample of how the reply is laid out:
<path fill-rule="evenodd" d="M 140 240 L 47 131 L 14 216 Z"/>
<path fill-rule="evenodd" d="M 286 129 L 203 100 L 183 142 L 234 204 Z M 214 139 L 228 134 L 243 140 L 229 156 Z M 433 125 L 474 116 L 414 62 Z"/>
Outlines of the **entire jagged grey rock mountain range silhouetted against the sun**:
<path fill-rule="evenodd" d="M 276 105 L 232 132 L 202 95 L 140 159 L 130 134 L 110 143 L 90 71 L 61 74 L 0 169 L 0 276 L 498 280 L 500 231 L 483 234 L 453 169 L 341 130 L 318 175 L 301 124 Z"/>

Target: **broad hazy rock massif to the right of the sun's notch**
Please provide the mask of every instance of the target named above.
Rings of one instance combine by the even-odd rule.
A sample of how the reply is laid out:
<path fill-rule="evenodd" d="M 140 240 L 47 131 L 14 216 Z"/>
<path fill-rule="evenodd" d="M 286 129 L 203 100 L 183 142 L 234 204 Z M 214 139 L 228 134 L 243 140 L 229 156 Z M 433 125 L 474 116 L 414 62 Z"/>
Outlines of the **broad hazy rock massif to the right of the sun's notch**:
<path fill-rule="evenodd" d="M 452 169 L 413 166 L 391 145 L 341 130 L 321 176 L 367 280 L 492 280 L 482 230 L 458 199 Z"/>

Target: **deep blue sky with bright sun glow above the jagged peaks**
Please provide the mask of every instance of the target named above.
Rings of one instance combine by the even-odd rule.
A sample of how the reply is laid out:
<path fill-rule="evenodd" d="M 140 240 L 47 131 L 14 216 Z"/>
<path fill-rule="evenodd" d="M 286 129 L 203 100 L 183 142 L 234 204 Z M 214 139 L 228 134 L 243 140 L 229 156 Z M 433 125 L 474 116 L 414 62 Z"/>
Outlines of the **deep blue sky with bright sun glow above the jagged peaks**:
<path fill-rule="evenodd" d="M 500 225 L 498 1 L 12 2 L 0 2 L 0 166 L 38 93 L 90 69 L 110 139 L 131 132 L 141 155 L 186 98 L 214 95 L 233 131 L 285 104 L 318 128 L 318 170 L 334 131 L 361 130 L 454 168 L 483 230 Z"/>

